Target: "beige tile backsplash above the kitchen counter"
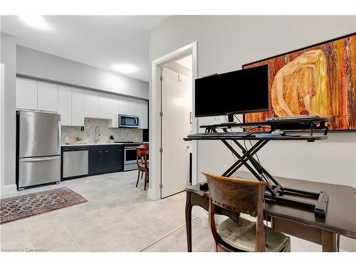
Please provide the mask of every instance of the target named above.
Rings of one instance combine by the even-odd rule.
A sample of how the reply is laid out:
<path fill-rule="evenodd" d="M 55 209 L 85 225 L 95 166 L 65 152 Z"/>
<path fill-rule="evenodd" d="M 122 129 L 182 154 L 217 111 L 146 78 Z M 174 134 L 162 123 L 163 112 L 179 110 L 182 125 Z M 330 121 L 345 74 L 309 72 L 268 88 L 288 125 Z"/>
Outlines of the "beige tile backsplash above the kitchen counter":
<path fill-rule="evenodd" d="M 74 142 L 75 137 L 82 137 L 83 142 L 95 142 L 95 126 L 100 127 L 99 142 L 109 142 L 109 137 L 112 135 L 115 142 L 119 141 L 142 141 L 142 129 L 130 128 L 109 128 L 108 120 L 85 118 L 84 130 L 80 130 L 78 126 L 62 126 L 62 143 Z"/>

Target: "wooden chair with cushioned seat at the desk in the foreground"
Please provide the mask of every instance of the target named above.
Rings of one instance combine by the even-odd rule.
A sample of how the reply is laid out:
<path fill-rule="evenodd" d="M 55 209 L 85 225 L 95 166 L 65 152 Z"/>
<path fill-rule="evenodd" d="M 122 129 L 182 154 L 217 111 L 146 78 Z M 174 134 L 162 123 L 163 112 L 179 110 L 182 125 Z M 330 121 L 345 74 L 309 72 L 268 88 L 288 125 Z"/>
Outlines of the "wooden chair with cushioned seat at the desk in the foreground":
<path fill-rule="evenodd" d="M 290 238 L 263 224 L 263 194 L 267 182 L 206 174 L 209 184 L 209 225 L 216 251 L 290 251 Z M 226 219 L 217 228 L 216 206 L 256 216 L 256 222 L 239 217 Z"/>

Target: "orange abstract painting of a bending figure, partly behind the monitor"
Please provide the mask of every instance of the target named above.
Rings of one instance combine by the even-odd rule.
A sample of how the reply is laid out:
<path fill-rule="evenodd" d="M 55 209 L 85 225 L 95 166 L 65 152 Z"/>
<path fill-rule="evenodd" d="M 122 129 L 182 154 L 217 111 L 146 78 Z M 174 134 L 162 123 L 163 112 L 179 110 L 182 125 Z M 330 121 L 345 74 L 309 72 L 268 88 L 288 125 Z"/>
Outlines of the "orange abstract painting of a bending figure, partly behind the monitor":
<path fill-rule="evenodd" d="M 269 110 L 244 115 L 330 117 L 330 130 L 356 130 L 356 33 L 248 63 L 268 65 Z"/>

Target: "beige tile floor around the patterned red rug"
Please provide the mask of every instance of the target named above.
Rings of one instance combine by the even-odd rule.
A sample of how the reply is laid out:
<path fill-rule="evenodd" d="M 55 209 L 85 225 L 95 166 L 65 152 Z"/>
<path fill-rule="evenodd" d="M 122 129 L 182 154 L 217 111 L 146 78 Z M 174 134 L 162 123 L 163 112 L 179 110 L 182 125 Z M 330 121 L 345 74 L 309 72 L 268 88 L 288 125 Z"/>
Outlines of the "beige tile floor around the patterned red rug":
<path fill-rule="evenodd" d="M 137 172 L 85 177 L 24 190 L 69 187 L 88 202 L 0 225 L 1 249 L 44 251 L 187 251 L 185 193 L 151 201 Z M 9 197 L 9 196 L 6 196 Z M 209 229 L 193 221 L 193 250 L 212 251 Z"/>

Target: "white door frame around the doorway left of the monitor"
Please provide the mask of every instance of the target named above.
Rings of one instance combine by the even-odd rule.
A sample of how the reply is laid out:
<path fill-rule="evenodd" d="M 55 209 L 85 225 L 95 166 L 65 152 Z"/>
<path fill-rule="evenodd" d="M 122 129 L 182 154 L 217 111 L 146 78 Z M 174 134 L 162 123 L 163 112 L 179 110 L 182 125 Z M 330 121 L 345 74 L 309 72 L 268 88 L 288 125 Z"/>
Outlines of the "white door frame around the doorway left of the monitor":
<path fill-rule="evenodd" d="M 159 152 L 161 144 L 161 130 L 159 111 L 161 110 L 160 103 L 160 81 L 159 67 L 169 61 L 182 58 L 192 54 L 192 112 L 194 114 L 194 99 L 195 99 L 195 79 L 197 78 L 197 42 L 190 43 L 187 46 L 177 49 L 172 53 L 168 53 L 155 61 L 152 61 L 152 85 L 150 87 L 150 187 L 147 189 L 147 197 L 157 200 L 161 198 L 161 153 Z M 193 117 L 193 132 L 198 132 L 198 119 Z M 197 184 L 197 141 L 192 142 L 192 184 Z"/>

